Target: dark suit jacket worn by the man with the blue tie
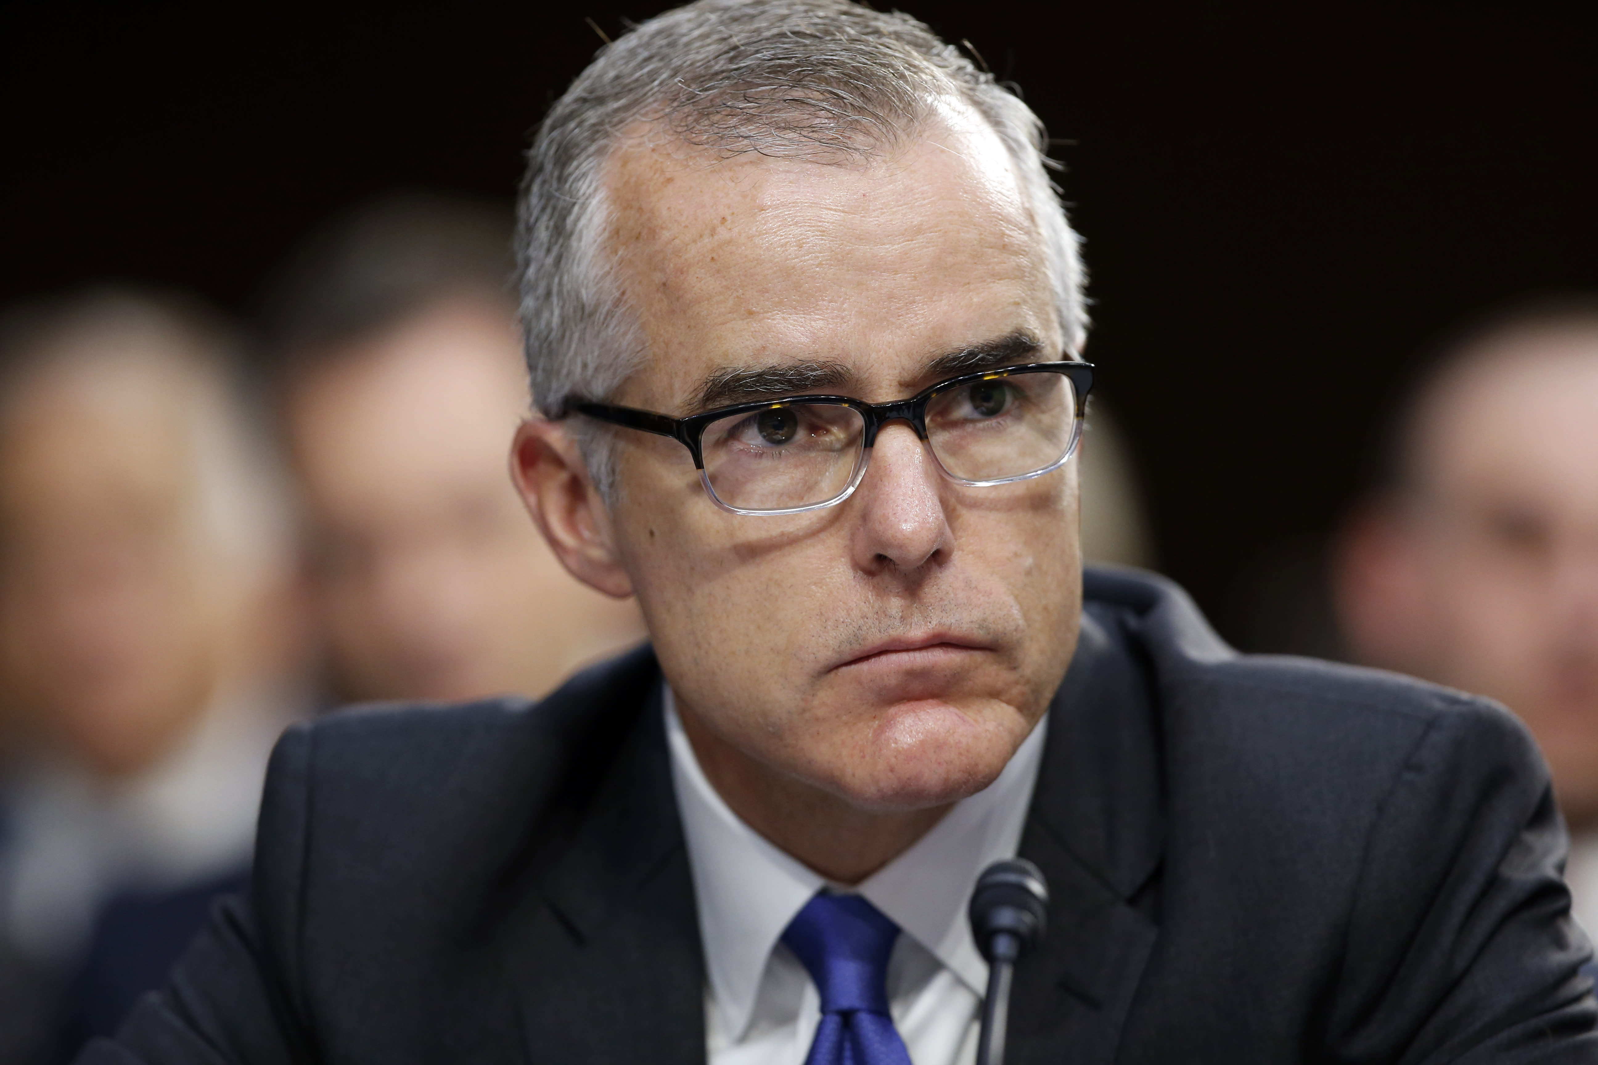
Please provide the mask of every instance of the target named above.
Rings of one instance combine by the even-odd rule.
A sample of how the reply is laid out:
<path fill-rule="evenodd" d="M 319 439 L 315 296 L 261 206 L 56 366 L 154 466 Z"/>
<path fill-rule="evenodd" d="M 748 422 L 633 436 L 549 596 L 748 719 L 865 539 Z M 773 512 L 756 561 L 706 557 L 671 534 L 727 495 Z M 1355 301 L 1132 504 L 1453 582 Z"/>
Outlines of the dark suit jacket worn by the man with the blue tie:
<path fill-rule="evenodd" d="M 1502 709 L 1240 658 L 1157 578 L 1087 596 L 1013 1065 L 1598 1062 L 1564 832 Z M 292 728 L 252 902 L 81 1060 L 686 1065 L 703 987 L 646 648 L 539 706 Z"/>

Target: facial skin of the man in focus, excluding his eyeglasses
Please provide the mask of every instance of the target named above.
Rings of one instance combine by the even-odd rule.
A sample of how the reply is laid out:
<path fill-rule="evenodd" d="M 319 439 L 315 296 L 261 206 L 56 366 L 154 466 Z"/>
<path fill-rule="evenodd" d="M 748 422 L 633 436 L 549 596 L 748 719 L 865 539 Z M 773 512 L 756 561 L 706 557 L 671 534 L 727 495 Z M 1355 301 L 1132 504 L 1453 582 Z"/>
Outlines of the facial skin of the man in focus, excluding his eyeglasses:
<path fill-rule="evenodd" d="M 686 415 L 729 370 L 817 362 L 828 385 L 797 391 L 882 402 L 949 377 L 940 356 L 1007 339 L 1037 342 L 1016 362 L 1063 358 L 1007 153 L 968 117 L 858 166 L 639 137 L 609 192 L 649 350 L 618 402 Z M 714 506 L 679 444 L 615 439 L 615 551 L 686 719 L 865 810 L 954 802 L 999 774 L 1075 645 L 1075 463 L 959 487 L 893 423 L 842 505 L 749 517 Z"/>

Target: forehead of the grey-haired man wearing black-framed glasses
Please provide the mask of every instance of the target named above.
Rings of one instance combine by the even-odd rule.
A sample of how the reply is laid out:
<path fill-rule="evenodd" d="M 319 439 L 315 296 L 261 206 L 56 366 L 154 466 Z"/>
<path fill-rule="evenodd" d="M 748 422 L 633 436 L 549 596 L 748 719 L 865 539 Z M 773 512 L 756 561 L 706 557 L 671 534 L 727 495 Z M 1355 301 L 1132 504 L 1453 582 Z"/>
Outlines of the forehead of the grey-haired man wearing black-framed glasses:
<path fill-rule="evenodd" d="M 951 345 L 1058 334 L 1028 203 L 975 117 L 845 164 L 716 160 L 641 131 L 610 160 L 607 196 L 657 399 L 725 366 L 829 359 L 903 378 Z"/>

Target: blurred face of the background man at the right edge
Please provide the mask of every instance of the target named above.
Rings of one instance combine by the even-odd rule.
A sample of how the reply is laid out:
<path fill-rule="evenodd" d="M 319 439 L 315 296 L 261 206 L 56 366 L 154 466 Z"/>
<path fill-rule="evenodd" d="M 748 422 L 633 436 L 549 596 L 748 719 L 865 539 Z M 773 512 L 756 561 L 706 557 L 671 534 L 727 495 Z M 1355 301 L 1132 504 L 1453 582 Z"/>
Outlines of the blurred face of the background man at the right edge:
<path fill-rule="evenodd" d="M 1545 337 L 1446 393 L 1413 536 L 1437 679 L 1520 714 L 1572 821 L 1598 819 L 1598 335 Z"/>

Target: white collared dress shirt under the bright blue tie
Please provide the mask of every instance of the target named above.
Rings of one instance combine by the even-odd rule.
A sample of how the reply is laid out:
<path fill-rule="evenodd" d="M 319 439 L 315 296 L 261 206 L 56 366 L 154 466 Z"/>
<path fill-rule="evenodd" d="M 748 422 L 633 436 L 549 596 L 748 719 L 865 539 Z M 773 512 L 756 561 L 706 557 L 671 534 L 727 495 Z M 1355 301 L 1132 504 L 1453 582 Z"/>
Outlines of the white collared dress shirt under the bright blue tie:
<path fill-rule="evenodd" d="M 845 888 L 732 813 L 705 778 L 670 688 L 665 712 L 705 944 L 710 1065 L 802 1065 L 821 1020 L 821 1000 L 780 937 L 821 888 L 855 891 L 900 926 L 887 990 L 914 1065 L 975 1062 L 988 963 L 972 939 L 965 905 L 978 873 L 1016 853 L 1047 719 L 997 781 L 956 803 L 914 846 L 863 883 Z"/>

